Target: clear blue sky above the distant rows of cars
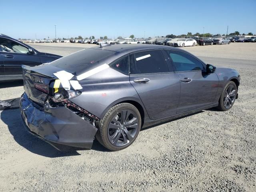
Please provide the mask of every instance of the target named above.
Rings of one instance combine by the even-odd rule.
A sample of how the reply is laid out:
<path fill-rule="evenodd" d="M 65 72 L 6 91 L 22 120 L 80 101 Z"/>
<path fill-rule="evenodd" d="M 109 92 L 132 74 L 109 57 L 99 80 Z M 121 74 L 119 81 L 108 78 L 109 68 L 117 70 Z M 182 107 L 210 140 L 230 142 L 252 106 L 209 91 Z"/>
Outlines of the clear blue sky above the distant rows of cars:
<path fill-rule="evenodd" d="M 256 34 L 256 0 L 0 0 L 0 33 L 13 38 L 136 38 L 192 34 Z"/>

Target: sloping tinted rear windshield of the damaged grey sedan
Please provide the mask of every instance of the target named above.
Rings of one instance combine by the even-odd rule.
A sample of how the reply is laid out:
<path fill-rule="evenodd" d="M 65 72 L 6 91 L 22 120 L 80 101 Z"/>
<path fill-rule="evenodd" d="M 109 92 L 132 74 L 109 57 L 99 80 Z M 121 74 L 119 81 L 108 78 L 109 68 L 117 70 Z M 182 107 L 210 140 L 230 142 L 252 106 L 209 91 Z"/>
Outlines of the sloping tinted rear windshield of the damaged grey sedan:
<path fill-rule="evenodd" d="M 64 70 L 79 72 L 85 69 L 90 70 L 100 63 L 100 60 L 107 58 L 115 52 L 102 49 L 85 49 L 50 63 L 50 65 Z"/>

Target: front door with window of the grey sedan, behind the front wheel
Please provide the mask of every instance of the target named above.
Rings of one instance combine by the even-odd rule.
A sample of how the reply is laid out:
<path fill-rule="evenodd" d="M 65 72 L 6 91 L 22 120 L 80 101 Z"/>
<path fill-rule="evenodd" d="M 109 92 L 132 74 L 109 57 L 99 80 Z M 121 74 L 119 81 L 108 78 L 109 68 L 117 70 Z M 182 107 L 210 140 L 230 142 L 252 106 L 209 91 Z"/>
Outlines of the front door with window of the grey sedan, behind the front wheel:
<path fill-rule="evenodd" d="M 180 102 L 177 113 L 183 113 L 213 104 L 219 79 L 216 73 L 206 74 L 204 64 L 194 56 L 166 50 L 180 80 Z"/>

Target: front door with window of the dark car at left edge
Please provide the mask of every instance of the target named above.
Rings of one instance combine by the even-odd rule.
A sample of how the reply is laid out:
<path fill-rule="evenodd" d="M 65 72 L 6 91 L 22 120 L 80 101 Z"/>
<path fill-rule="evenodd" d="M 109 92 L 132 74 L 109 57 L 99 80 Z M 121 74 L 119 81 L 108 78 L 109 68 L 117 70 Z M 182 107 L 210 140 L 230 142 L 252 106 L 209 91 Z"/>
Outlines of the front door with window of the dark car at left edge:
<path fill-rule="evenodd" d="M 0 39 L 2 47 L 2 57 L 4 61 L 5 75 L 22 75 L 22 65 L 36 66 L 42 64 L 37 54 L 29 54 L 28 48 L 16 41 L 2 38 Z"/>

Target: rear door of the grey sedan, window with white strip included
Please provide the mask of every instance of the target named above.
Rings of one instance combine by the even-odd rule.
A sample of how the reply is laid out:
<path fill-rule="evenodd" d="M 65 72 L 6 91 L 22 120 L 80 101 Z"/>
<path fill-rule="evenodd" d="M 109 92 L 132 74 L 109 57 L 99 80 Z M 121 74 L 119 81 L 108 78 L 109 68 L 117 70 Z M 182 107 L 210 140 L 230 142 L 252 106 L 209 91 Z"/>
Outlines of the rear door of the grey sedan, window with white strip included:
<path fill-rule="evenodd" d="M 168 68 L 161 50 L 130 54 L 130 83 L 150 119 L 157 120 L 177 113 L 180 81 L 172 68 Z"/>

